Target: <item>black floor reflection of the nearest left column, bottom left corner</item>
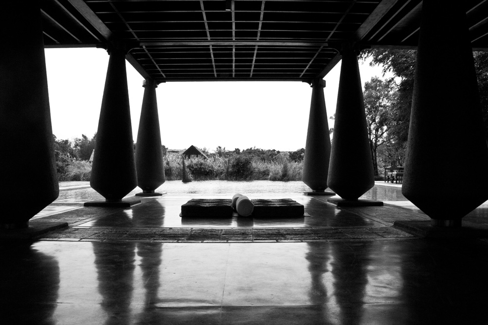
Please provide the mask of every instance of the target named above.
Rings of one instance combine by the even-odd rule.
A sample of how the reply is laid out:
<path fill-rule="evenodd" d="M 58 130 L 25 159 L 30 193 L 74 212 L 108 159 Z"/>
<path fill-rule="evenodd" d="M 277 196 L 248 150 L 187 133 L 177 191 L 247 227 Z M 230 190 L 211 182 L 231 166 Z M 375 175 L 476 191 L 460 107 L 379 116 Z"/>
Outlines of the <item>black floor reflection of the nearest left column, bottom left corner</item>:
<path fill-rule="evenodd" d="M 0 249 L 0 323 L 55 324 L 60 268 L 52 256 L 30 246 Z"/>

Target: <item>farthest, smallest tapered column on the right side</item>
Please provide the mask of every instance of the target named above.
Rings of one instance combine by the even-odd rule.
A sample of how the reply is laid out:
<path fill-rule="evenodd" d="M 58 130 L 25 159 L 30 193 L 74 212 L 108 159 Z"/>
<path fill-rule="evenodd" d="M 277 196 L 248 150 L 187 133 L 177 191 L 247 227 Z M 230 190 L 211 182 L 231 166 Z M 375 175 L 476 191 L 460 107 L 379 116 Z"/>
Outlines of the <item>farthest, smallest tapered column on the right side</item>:
<path fill-rule="evenodd" d="M 302 181 L 313 192 L 323 193 L 327 188 L 330 157 L 330 135 L 324 98 L 325 80 L 313 80 L 311 87 Z"/>

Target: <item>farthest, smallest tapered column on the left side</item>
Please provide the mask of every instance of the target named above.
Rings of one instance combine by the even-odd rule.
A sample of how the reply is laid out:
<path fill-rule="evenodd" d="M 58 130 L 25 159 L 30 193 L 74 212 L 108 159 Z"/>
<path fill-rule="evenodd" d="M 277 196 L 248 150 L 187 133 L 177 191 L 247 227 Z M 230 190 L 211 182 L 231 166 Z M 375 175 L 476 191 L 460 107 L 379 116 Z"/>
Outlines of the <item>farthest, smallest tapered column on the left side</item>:
<path fill-rule="evenodd" d="M 143 87 L 144 97 L 136 144 L 137 185 L 142 193 L 136 195 L 161 195 L 154 192 L 166 180 L 156 100 L 158 84 L 154 80 L 144 80 Z"/>

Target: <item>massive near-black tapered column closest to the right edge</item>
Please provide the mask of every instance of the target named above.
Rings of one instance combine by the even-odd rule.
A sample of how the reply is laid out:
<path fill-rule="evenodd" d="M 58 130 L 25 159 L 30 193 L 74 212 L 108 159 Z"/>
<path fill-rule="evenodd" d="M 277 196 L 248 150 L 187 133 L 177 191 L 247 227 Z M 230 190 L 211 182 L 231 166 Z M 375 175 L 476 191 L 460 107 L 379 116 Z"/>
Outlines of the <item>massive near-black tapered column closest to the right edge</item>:
<path fill-rule="evenodd" d="M 424 0 L 402 193 L 434 225 L 460 226 L 488 199 L 487 166 L 464 6 Z"/>

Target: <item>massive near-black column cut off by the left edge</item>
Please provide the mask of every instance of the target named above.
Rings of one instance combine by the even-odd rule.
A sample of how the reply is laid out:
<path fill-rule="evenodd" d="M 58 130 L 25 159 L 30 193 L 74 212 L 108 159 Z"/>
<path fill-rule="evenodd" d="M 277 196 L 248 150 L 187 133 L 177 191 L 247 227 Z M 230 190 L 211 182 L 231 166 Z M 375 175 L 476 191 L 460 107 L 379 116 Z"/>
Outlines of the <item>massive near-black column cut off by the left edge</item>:
<path fill-rule="evenodd" d="M 59 194 L 39 1 L 0 10 L 0 228 L 24 228 Z"/>

